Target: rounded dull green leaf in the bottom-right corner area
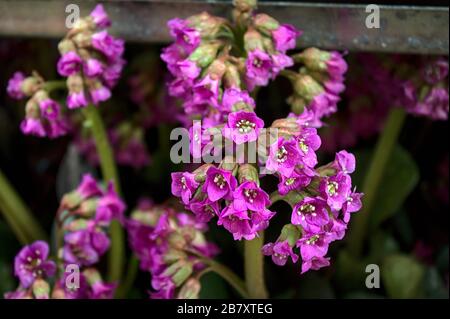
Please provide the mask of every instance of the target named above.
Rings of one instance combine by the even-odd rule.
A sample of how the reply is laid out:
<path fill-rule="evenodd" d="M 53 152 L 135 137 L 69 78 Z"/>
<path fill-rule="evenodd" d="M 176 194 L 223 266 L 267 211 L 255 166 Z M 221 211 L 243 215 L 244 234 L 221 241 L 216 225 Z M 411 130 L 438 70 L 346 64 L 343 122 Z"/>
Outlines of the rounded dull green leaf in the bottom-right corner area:
<path fill-rule="evenodd" d="M 381 266 L 381 280 L 390 298 L 418 298 L 423 295 L 425 269 L 408 255 L 390 255 Z"/>

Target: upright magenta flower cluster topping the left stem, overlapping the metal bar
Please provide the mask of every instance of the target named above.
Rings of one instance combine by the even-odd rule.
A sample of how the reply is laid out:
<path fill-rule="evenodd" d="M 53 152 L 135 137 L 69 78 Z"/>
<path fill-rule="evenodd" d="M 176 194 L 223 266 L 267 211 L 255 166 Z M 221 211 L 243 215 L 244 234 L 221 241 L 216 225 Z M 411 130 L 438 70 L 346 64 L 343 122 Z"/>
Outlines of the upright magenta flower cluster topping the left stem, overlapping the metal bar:
<path fill-rule="evenodd" d="M 110 24 L 103 6 L 97 5 L 58 45 L 58 73 L 67 77 L 69 109 L 98 105 L 111 97 L 125 60 L 124 41 L 108 33 Z"/>

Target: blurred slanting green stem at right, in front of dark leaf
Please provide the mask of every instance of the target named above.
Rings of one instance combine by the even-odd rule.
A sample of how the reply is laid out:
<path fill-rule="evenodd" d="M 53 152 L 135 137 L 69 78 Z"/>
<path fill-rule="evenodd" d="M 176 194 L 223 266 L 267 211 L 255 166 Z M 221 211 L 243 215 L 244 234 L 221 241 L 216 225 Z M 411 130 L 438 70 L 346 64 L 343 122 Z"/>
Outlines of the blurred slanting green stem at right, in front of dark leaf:
<path fill-rule="evenodd" d="M 363 208 L 354 217 L 354 223 L 350 227 L 351 232 L 348 238 L 349 250 L 355 257 L 361 254 L 364 236 L 367 233 L 370 214 L 375 203 L 377 191 L 379 190 L 380 182 L 385 173 L 391 153 L 397 143 L 405 118 L 406 112 L 403 108 L 393 107 L 385 122 L 383 131 L 378 138 L 375 152 L 362 187 L 362 192 L 364 193 Z"/>

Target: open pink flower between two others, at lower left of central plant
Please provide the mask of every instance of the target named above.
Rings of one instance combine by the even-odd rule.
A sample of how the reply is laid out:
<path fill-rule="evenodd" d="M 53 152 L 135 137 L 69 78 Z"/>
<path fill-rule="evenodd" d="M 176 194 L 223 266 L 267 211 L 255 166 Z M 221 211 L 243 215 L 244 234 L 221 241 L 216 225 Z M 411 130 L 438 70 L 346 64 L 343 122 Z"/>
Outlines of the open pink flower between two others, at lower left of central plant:
<path fill-rule="evenodd" d="M 211 166 L 206 172 L 203 191 L 210 201 L 215 202 L 222 198 L 231 199 L 236 186 L 236 178 L 230 171 Z"/>

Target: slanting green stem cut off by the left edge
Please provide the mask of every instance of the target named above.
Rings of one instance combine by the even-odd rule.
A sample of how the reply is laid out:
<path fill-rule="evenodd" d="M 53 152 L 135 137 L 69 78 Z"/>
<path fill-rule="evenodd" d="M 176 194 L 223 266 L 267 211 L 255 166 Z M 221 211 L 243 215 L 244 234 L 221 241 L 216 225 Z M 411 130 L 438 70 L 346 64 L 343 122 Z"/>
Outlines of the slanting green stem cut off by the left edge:
<path fill-rule="evenodd" d="M 22 244 L 29 244 L 38 239 L 46 239 L 44 230 L 1 170 L 0 210 Z"/>

